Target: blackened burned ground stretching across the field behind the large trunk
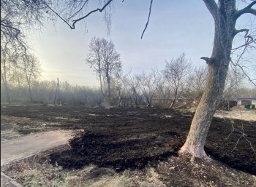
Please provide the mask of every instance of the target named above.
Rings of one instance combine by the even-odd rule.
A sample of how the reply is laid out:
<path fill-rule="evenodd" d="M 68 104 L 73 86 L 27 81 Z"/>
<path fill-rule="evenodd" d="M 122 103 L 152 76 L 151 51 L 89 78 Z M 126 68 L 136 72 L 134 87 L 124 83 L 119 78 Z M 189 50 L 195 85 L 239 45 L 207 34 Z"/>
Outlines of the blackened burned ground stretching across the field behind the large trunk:
<path fill-rule="evenodd" d="M 193 114 L 148 108 L 7 106 L 1 108 L 1 116 L 1 132 L 12 128 L 18 135 L 84 130 L 69 141 L 71 148 L 51 154 L 50 163 L 67 170 L 93 163 L 119 172 L 148 164 L 156 166 L 159 160 L 176 156 L 186 140 Z M 4 135 L 1 140 L 12 138 Z M 214 118 L 206 154 L 256 175 L 255 145 L 256 122 Z"/>

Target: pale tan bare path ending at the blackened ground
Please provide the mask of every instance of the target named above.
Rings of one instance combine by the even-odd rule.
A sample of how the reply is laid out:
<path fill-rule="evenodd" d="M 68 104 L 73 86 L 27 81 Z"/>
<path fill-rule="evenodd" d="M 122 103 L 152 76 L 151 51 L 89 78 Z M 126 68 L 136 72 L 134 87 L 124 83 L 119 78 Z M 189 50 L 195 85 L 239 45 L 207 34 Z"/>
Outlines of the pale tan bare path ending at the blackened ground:
<path fill-rule="evenodd" d="M 71 130 L 40 132 L 1 142 L 1 165 L 67 143 Z"/>

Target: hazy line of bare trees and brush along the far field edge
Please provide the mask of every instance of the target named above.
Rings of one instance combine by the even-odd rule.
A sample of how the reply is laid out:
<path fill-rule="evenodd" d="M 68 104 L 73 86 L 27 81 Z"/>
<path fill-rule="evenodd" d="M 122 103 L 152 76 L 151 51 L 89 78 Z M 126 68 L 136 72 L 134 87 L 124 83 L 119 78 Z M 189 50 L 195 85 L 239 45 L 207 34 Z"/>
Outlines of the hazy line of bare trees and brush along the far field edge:
<path fill-rule="evenodd" d="M 121 57 L 107 39 L 94 37 L 85 63 L 96 73 L 99 88 L 61 81 L 60 101 L 67 105 L 177 108 L 197 106 L 206 86 L 206 65 L 193 67 L 185 53 L 165 60 L 165 68 L 149 72 L 122 73 Z M 1 102 L 54 103 L 56 81 L 40 79 L 40 63 L 31 54 L 18 55 L 2 49 Z M 256 97 L 243 87 L 244 78 L 230 68 L 223 98 Z"/>

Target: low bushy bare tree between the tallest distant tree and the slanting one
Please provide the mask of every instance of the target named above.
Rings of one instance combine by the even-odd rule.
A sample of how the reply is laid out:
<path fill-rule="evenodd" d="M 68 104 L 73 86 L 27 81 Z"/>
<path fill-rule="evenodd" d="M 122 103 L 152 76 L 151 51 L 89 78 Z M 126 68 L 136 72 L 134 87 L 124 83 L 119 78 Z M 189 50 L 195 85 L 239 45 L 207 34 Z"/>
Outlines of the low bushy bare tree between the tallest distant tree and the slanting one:
<path fill-rule="evenodd" d="M 162 77 L 158 69 L 152 70 L 150 73 L 141 73 L 137 76 L 139 87 L 146 98 L 147 107 L 152 106 L 152 101 L 156 96 L 157 88 L 161 84 Z"/>

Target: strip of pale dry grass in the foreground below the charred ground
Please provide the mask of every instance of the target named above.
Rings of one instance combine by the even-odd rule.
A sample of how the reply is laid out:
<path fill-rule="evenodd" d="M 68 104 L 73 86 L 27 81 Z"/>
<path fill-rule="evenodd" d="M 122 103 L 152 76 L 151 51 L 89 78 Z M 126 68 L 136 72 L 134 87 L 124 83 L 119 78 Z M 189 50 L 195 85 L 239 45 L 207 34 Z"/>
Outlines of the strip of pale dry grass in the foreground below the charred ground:
<path fill-rule="evenodd" d="M 81 170 L 63 170 L 58 164 L 39 164 L 31 159 L 13 162 L 9 167 L 4 168 L 9 171 L 7 175 L 27 187 L 165 187 L 153 167 L 121 173 L 94 165 Z"/>

